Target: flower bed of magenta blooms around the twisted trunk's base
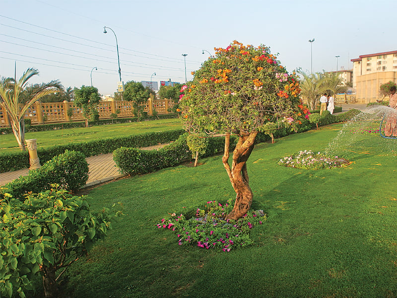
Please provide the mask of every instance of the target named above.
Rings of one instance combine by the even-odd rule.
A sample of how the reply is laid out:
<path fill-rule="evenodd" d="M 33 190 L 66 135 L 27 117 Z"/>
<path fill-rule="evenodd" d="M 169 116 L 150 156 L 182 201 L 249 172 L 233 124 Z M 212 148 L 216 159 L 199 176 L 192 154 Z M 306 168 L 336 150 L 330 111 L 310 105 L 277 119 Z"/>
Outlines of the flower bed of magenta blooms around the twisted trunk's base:
<path fill-rule="evenodd" d="M 209 201 L 203 209 L 197 208 L 195 216 L 187 216 L 186 211 L 184 214 L 172 213 L 162 219 L 157 227 L 177 233 L 179 245 L 197 245 L 205 249 L 218 248 L 229 252 L 231 249 L 253 244 L 254 241 L 249 236 L 250 229 L 266 221 L 263 211 L 249 211 L 237 221 L 224 220 L 232 209 L 231 200 L 225 204 Z"/>

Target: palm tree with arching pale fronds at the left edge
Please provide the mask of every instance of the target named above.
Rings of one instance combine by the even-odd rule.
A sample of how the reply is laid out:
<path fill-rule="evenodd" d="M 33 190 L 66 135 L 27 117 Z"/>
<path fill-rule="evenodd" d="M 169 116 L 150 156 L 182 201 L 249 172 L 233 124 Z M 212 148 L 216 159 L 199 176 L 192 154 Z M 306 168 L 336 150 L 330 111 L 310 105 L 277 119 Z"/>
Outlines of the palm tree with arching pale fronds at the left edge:
<path fill-rule="evenodd" d="M 33 68 L 27 69 L 22 76 L 14 78 L 0 77 L 0 102 L 11 120 L 11 128 L 21 150 L 25 149 L 25 122 L 23 117 L 26 110 L 41 97 L 63 91 L 59 80 L 52 80 L 48 83 L 28 85 L 28 80 L 39 74 Z"/>

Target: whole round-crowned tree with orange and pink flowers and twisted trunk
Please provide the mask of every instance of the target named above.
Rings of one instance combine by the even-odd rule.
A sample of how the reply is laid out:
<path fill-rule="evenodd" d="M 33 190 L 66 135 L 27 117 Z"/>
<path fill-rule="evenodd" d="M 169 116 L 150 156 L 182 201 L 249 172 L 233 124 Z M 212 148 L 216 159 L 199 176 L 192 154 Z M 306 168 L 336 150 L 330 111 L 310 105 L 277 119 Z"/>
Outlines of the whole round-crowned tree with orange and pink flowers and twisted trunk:
<path fill-rule="evenodd" d="M 234 208 L 226 219 L 236 220 L 247 213 L 253 199 L 246 162 L 255 138 L 267 122 L 294 121 L 302 112 L 300 88 L 296 74 L 288 74 L 268 47 L 234 41 L 215 51 L 216 56 L 204 62 L 193 73 L 193 81 L 182 87 L 180 108 L 189 133 L 225 134 L 222 162 L 236 192 Z M 238 136 L 238 143 L 230 165 L 231 134 Z"/>

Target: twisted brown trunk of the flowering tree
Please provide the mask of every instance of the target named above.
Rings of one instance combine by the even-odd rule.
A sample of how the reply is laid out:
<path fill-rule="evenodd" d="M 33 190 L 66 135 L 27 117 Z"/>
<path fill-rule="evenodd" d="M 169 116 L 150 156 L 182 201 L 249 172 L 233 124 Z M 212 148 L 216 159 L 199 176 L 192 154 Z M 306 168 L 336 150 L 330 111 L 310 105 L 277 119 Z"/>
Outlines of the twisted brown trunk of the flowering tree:
<path fill-rule="evenodd" d="M 225 149 L 222 157 L 223 165 L 229 175 L 230 182 L 236 192 L 233 210 L 226 216 L 226 220 L 237 220 L 243 217 L 251 208 L 253 193 L 249 185 L 247 160 L 254 149 L 255 138 L 258 133 L 242 134 L 233 151 L 232 165 L 229 165 L 230 134 L 225 137 Z"/>

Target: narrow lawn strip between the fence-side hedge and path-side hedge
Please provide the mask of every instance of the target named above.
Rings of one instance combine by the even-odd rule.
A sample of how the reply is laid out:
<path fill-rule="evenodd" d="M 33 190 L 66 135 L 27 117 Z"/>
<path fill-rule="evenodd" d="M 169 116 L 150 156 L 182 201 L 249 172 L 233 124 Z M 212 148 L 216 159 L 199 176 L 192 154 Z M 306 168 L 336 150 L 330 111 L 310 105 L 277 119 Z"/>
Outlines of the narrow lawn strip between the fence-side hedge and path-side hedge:
<path fill-rule="evenodd" d="M 96 139 L 126 137 L 148 132 L 167 131 L 182 128 L 179 119 L 162 119 L 123 124 L 98 125 L 89 128 L 69 128 L 44 132 L 27 132 L 25 140 L 37 139 L 37 148 L 64 145 L 69 142 L 87 142 Z M 0 135 L 2 153 L 19 151 L 13 134 Z"/>

